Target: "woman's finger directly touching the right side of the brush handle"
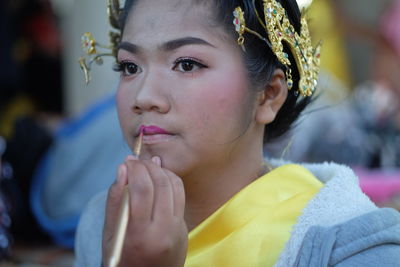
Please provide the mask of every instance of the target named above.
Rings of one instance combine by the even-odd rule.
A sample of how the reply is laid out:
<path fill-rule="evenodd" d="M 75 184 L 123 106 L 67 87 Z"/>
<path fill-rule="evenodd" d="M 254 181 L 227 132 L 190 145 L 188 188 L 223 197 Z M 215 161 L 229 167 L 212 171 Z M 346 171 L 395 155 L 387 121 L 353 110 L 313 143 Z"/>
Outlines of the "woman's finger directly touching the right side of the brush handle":
<path fill-rule="evenodd" d="M 128 189 L 130 220 L 133 223 L 143 224 L 151 220 L 154 188 L 150 174 L 139 160 L 128 160 Z"/>

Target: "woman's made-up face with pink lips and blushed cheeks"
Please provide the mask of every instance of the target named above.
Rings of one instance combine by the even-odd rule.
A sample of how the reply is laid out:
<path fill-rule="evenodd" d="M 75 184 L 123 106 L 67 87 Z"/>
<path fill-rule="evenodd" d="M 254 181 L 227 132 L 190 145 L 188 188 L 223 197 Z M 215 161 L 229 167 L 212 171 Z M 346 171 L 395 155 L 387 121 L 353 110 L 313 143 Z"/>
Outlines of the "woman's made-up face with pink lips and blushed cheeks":
<path fill-rule="evenodd" d="M 210 20 L 192 1 L 138 1 L 118 51 L 118 115 L 129 146 L 144 126 L 141 157 L 160 156 L 181 177 L 225 167 L 254 124 L 240 47 Z"/>

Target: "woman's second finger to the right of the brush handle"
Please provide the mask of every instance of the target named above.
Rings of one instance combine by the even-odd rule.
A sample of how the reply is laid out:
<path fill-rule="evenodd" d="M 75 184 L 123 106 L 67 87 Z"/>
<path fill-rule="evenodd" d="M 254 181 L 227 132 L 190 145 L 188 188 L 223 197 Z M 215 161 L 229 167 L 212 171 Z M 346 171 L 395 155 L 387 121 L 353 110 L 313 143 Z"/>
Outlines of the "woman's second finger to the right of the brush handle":
<path fill-rule="evenodd" d="M 153 219 L 171 216 L 174 212 L 173 190 L 168 175 L 153 161 L 145 161 L 154 184 Z"/>

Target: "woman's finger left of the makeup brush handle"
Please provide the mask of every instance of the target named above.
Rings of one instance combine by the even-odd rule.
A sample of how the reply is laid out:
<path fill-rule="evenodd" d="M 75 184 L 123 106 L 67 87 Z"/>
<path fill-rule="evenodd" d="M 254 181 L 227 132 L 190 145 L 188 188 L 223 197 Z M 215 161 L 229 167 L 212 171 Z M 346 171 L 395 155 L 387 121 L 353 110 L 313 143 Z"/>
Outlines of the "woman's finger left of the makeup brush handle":
<path fill-rule="evenodd" d="M 115 218 L 118 216 L 122 192 L 127 183 L 127 167 L 125 164 L 120 164 L 118 166 L 117 179 L 108 190 L 106 216 L 104 222 L 104 236 L 107 239 L 111 239 L 112 233 L 114 232 Z"/>

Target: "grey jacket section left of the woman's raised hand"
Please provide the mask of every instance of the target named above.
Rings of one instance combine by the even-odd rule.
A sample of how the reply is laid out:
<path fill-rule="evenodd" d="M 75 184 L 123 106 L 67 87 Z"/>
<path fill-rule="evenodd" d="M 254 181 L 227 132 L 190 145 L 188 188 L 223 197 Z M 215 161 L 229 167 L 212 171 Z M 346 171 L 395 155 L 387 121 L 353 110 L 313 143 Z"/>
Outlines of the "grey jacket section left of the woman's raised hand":
<path fill-rule="evenodd" d="M 75 267 L 101 265 L 101 243 L 107 191 L 95 195 L 80 218 L 75 239 Z"/>

